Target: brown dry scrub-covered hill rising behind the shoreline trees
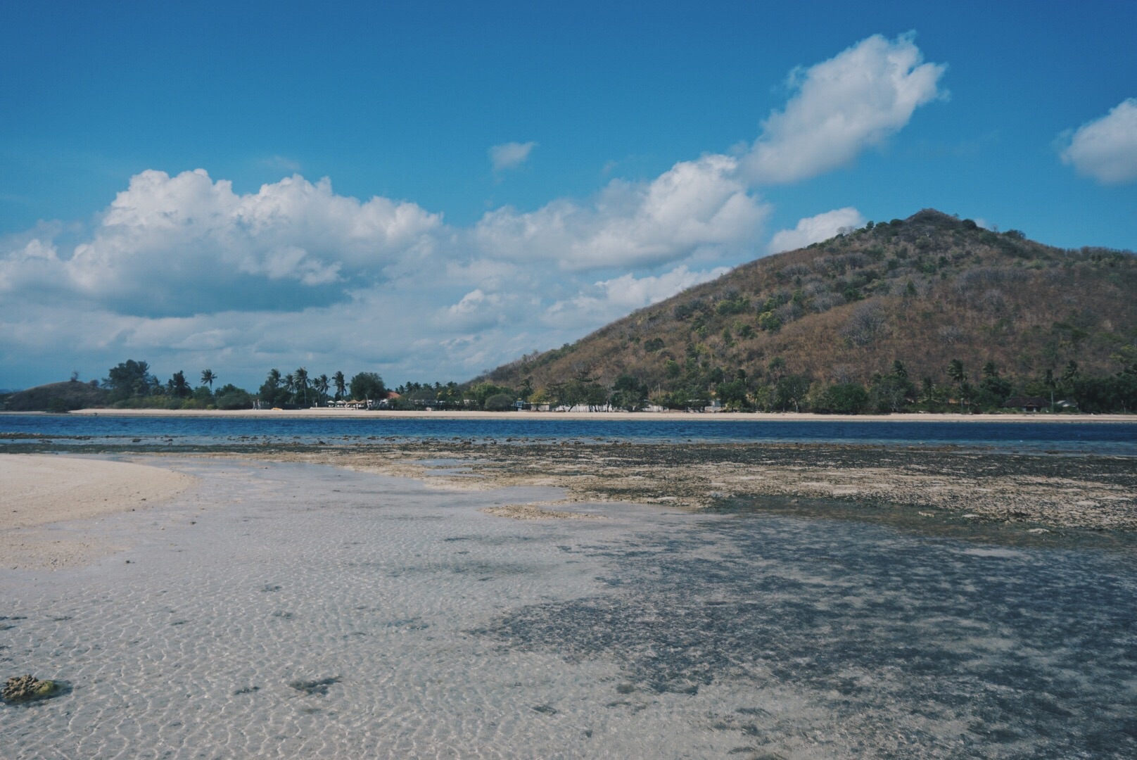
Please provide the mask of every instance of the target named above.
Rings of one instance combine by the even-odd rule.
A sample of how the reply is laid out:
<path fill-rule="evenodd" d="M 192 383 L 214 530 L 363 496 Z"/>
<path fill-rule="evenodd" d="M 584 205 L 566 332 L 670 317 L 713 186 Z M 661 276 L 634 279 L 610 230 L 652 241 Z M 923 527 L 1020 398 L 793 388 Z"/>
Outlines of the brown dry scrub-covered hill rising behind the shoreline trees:
<path fill-rule="evenodd" d="M 832 386 L 879 396 L 894 377 L 908 404 L 998 406 L 1013 394 L 1073 396 L 1079 380 L 1137 374 L 1135 304 L 1131 251 L 1054 248 L 924 209 L 744 264 L 479 380 L 556 396 L 566 383 L 611 389 L 623 377 L 673 406 L 717 396 L 792 408 L 779 383 L 794 377 L 795 406 L 804 380 L 824 411 Z M 949 377 L 953 361 L 965 379 Z"/>

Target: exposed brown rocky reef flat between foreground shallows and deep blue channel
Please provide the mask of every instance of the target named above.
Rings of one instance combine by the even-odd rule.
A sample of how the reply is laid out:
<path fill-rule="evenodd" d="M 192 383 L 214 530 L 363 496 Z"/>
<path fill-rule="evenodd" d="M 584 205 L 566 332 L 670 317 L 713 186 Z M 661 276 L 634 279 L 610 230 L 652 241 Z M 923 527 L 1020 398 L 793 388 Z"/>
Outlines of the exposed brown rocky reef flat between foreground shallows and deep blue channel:
<path fill-rule="evenodd" d="M 835 444 L 428 440 L 262 449 L 448 488 L 565 488 L 567 501 L 690 510 L 827 499 L 849 517 L 895 505 L 1032 529 L 1137 530 L 1137 462 L 1124 456 Z"/>

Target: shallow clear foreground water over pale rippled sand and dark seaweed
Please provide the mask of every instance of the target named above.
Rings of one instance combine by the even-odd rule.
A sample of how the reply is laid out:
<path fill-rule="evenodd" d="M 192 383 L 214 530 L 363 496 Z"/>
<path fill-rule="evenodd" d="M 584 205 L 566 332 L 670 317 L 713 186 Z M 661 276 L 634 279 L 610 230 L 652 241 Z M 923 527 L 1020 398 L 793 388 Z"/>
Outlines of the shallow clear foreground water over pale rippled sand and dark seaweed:
<path fill-rule="evenodd" d="M 1131 552 L 177 466 L 133 548 L 0 570 L 0 672 L 70 685 L 6 758 L 1137 755 Z"/>

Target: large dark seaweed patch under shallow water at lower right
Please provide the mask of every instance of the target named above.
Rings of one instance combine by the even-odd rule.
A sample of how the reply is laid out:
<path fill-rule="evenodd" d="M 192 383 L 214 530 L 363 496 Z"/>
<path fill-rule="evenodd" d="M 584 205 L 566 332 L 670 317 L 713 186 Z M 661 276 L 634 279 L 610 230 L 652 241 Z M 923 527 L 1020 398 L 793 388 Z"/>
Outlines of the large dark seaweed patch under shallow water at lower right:
<path fill-rule="evenodd" d="M 1132 713 L 1137 668 L 1130 554 L 745 512 L 591 554 L 623 585 L 505 611 L 473 633 L 511 653 L 614 663 L 609 708 L 712 685 L 753 695 L 720 720 L 747 737 L 799 730 L 805 719 L 773 707 L 794 694 L 830 716 L 807 719 L 823 730 L 879 737 L 905 713 L 945 747 L 968 724 L 990 750 L 1012 741 L 998 732 L 1013 721 L 1015 757 L 1137 757 L 1137 724 L 1115 719 Z M 878 742 L 869 754 L 911 757 Z"/>

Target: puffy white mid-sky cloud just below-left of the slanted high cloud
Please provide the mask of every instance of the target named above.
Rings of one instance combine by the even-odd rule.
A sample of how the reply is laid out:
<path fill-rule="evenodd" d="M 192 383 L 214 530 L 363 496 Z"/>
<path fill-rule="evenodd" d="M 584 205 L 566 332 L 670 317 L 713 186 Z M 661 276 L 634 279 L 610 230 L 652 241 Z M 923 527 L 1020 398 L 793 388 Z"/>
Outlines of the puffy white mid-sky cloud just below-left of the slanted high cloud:
<path fill-rule="evenodd" d="M 591 203 L 505 207 L 473 230 L 485 255 L 553 261 L 568 271 L 655 266 L 753 241 L 769 208 L 750 196 L 729 156 L 680 162 L 652 182 L 615 180 Z"/>

